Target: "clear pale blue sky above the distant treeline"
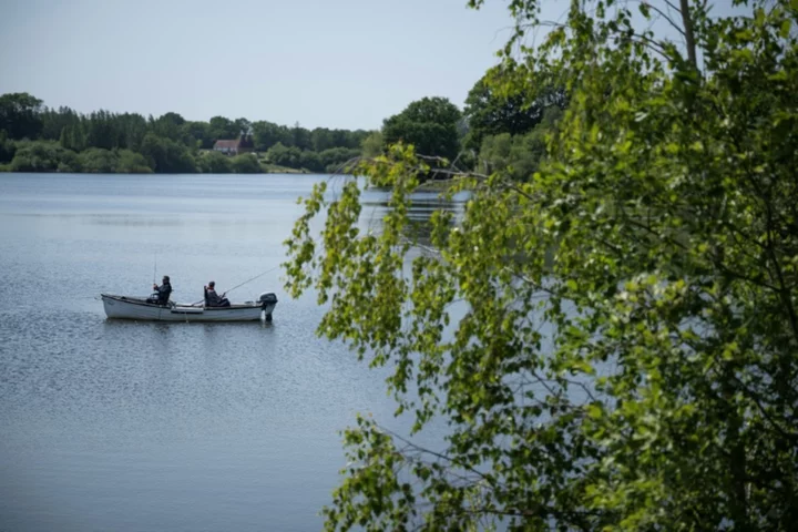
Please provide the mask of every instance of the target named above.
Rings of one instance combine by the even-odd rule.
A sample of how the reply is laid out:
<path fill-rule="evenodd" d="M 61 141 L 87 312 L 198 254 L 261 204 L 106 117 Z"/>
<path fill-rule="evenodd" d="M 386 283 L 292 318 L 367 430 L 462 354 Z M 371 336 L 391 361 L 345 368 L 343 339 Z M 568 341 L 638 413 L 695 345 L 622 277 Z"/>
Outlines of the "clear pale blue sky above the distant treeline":
<path fill-rule="evenodd" d="M 0 94 L 187 120 L 379 129 L 462 108 L 509 38 L 505 0 L 0 0 Z"/>

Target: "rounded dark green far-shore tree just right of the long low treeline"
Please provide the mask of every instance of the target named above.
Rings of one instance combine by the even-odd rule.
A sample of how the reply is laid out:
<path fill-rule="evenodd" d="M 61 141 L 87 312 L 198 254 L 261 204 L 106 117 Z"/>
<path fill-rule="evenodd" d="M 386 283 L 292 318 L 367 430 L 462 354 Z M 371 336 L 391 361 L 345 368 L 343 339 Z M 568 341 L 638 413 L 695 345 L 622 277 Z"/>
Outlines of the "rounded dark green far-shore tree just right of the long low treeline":
<path fill-rule="evenodd" d="M 457 123 L 460 110 L 446 98 L 423 98 L 405 111 L 386 119 L 382 137 L 386 145 L 413 144 L 418 153 L 454 158 L 460 150 Z"/>

